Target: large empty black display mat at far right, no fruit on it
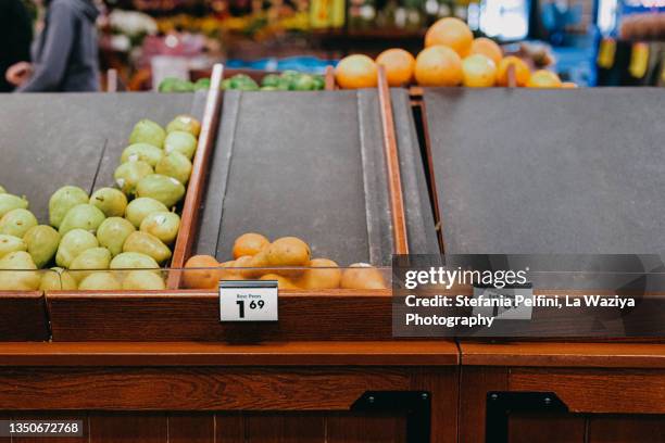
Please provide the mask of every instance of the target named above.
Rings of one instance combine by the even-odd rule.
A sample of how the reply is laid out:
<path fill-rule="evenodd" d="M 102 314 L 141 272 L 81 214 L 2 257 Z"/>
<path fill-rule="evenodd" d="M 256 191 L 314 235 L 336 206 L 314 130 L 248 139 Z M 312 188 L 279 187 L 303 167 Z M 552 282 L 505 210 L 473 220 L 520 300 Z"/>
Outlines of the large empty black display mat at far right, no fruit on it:
<path fill-rule="evenodd" d="M 665 90 L 424 99 L 447 253 L 665 253 Z"/>

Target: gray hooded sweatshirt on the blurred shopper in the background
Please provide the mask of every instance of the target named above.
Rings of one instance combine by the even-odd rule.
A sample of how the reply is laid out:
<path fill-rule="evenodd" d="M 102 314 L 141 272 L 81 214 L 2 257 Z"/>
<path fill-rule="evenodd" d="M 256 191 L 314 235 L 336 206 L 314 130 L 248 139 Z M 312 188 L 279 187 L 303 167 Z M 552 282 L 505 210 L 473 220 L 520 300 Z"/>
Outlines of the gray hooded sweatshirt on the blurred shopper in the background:
<path fill-rule="evenodd" d="M 91 0 L 51 0 L 33 48 L 34 73 L 24 92 L 99 90 L 99 50 Z"/>

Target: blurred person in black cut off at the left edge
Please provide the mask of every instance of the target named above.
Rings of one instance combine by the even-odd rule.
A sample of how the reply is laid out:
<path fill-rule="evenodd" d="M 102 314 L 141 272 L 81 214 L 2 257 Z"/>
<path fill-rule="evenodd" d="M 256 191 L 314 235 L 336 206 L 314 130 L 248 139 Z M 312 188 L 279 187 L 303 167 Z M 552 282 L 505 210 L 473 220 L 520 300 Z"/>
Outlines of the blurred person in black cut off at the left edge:
<path fill-rule="evenodd" d="M 23 0 L 0 0 L 0 92 L 11 92 L 14 85 L 4 78 L 7 69 L 30 60 L 33 22 Z"/>

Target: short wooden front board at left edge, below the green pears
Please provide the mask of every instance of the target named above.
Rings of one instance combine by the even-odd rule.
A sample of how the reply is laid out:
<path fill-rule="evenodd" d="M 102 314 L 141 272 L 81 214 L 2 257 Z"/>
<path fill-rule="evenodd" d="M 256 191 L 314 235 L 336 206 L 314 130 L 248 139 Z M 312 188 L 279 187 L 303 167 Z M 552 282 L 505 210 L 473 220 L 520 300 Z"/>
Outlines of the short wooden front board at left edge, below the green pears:
<path fill-rule="evenodd" d="M 0 341 L 48 339 L 46 300 L 41 292 L 0 292 Z"/>

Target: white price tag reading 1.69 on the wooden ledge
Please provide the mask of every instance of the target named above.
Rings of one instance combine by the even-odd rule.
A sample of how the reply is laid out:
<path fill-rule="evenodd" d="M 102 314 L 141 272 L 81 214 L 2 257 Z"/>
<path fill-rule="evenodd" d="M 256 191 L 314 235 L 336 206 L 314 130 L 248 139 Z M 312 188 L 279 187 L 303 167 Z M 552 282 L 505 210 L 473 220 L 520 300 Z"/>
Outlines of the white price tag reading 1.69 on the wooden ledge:
<path fill-rule="evenodd" d="M 277 281 L 219 281 L 219 321 L 277 321 Z"/>

